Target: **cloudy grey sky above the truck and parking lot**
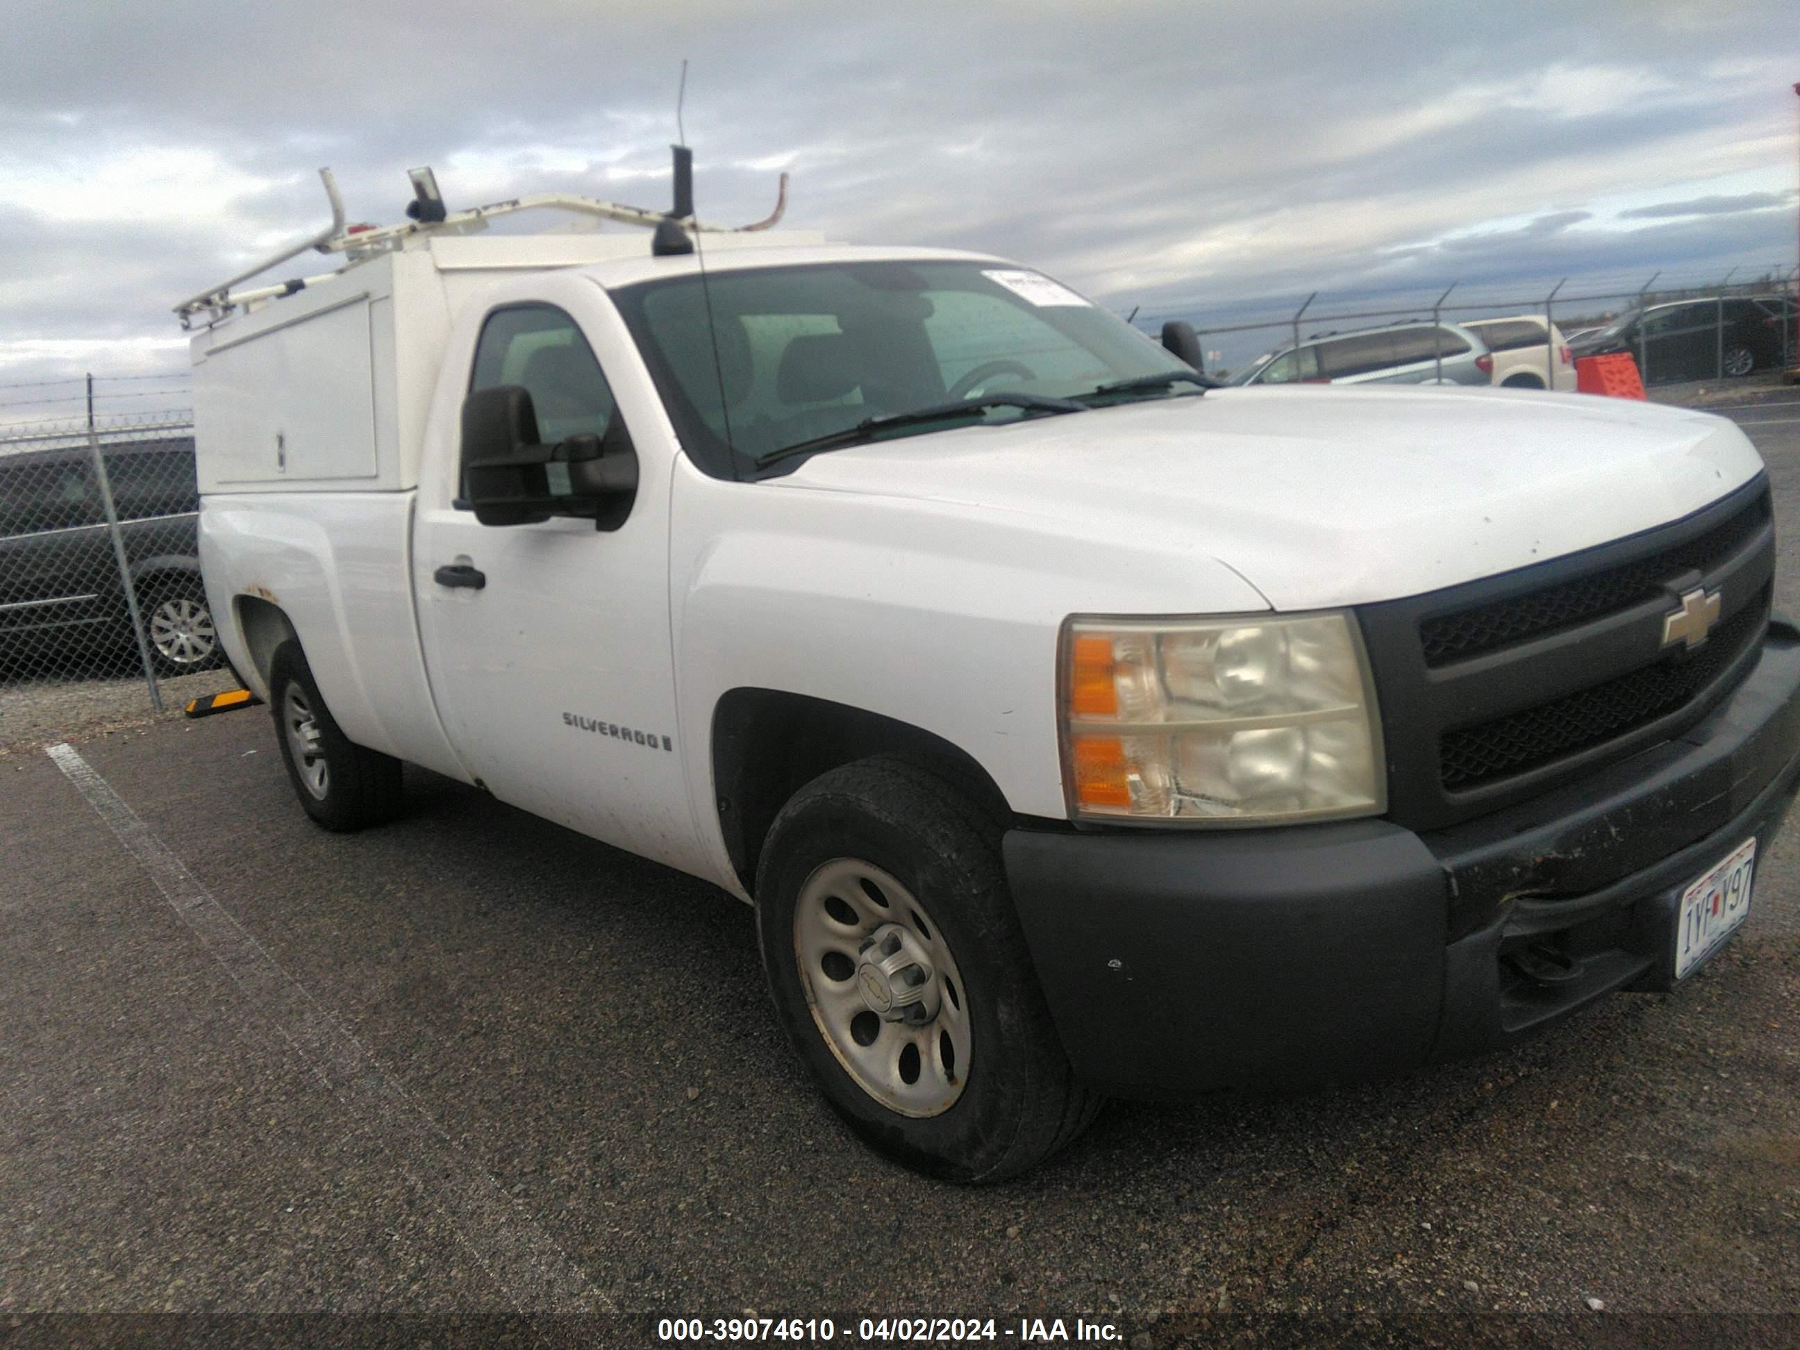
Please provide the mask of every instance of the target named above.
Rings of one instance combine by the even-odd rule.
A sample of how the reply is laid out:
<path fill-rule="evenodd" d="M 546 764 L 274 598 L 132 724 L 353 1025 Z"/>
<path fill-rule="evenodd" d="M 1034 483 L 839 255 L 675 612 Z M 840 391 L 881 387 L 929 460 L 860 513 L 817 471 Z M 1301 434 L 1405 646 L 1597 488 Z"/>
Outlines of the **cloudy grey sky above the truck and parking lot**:
<path fill-rule="evenodd" d="M 796 229 L 1008 254 L 1147 317 L 1796 263 L 1793 0 L 7 14 L 13 383 L 180 371 L 169 304 L 319 229 L 320 164 L 351 220 L 398 220 L 416 164 L 452 207 L 545 189 L 662 205 L 682 58 L 702 218 L 763 216 L 787 169 Z"/>

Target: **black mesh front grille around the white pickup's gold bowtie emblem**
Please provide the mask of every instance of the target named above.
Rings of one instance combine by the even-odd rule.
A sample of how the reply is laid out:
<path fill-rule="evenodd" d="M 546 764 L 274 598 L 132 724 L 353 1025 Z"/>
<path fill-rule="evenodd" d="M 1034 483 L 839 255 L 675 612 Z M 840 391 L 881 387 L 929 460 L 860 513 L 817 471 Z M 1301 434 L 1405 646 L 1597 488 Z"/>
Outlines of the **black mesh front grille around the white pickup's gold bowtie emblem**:
<path fill-rule="evenodd" d="M 1631 538 L 1424 596 L 1363 605 L 1388 754 L 1388 815 L 1436 830 L 1566 783 L 1699 722 L 1768 630 L 1764 477 Z M 1706 641 L 1663 643 L 1694 589 Z"/>

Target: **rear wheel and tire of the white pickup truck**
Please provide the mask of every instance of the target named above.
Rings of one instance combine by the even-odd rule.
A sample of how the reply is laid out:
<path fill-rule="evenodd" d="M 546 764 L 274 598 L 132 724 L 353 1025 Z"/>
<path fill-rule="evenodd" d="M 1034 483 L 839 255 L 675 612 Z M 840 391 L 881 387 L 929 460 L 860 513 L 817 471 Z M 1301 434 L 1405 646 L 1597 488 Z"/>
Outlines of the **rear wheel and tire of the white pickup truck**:
<path fill-rule="evenodd" d="M 292 639 L 268 662 L 268 706 L 288 779 L 313 821 L 351 832 L 400 814 L 400 760 L 344 736 L 319 697 L 301 644 Z"/>

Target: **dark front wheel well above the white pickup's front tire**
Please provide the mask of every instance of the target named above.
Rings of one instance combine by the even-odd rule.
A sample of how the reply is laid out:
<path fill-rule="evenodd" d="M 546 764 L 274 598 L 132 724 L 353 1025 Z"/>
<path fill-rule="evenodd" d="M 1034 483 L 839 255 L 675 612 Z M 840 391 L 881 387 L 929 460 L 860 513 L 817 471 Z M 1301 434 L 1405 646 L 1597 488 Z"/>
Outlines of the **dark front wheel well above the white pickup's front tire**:
<path fill-rule="evenodd" d="M 943 736 L 826 698 L 733 689 L 713 709 L 713 806 L 745 891 L 754 891 L 763 839 L 788 797 L 819 774 L 875 754 L 898 756 L 954 783 L 997 826 L 1013 819 L 999 785 Z"/>

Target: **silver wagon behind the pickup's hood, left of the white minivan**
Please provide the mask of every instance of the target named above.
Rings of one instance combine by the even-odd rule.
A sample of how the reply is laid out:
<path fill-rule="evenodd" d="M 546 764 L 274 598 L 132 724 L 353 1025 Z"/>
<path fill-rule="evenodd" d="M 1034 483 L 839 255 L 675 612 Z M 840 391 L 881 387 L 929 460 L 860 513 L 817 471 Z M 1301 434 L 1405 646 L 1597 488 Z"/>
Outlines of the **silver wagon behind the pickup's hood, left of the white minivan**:
<path fill-rule="evenodd" d="M 1485 385 L 1492 380 L 1494 358 L 1467 328 L 1391 324 L 1318 333 L 1298 347 L 1258 356 L 1229 383 Z"/>

